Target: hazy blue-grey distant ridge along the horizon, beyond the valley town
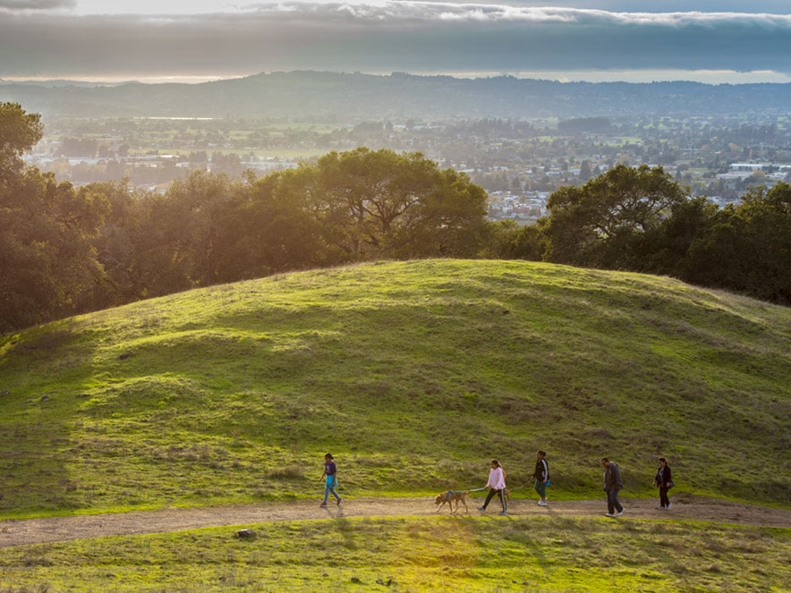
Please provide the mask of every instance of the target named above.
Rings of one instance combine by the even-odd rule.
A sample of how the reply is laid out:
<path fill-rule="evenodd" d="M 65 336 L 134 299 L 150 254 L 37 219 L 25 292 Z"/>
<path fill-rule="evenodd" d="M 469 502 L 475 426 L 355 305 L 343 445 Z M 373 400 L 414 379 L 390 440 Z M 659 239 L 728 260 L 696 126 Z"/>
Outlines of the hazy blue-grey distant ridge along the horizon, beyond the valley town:
<path fill-rule="evenodd" d="M 787 114 L 791 84 L 556 82 L 272 72 L 201 84 L 0 82 L 0 101 L 72 116 L 339 120 Z"/>

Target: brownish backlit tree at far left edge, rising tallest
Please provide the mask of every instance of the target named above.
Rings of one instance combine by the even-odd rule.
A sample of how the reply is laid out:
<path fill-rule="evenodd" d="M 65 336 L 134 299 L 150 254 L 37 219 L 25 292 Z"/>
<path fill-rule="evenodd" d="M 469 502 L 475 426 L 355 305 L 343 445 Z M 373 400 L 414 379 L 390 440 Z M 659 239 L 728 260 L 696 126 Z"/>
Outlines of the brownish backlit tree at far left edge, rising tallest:
<path fill-rule="evenodd" d="M 92 241 L 105 199 L 26 168 L 40 136 L 38 115 L 0 104 L 0 331 L 81 309 L 102 275 Z"/>

